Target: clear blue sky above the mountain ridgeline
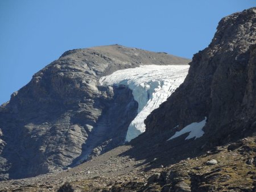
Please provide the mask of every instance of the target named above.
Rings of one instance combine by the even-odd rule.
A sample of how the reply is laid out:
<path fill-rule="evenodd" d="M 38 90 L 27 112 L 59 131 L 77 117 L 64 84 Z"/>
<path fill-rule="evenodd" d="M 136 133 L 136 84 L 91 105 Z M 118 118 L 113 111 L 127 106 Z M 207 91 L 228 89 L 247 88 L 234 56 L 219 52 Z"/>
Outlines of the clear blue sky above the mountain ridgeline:
<path fill-rule="evenodd" d="M 69 49 L 121 44 L 192 58 L 255 0 L 1 0 L 0 105 Z"/>

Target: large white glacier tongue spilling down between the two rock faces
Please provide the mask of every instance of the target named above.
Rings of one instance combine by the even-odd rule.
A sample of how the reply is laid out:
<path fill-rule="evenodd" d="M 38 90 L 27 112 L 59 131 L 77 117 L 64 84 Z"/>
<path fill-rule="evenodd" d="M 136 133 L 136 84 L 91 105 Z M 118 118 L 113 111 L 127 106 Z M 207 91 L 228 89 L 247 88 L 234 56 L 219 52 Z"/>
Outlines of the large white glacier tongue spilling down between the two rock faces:
<path fill-rule="evenodd" d="M 125 141 L 145 131 L 144 120 L 183 83 L 188 69 L 189 65 L 141 65 L 100 78 L 101 85 L 128 86 L 138 102 L 138 114 L 128 127 Z"/>

